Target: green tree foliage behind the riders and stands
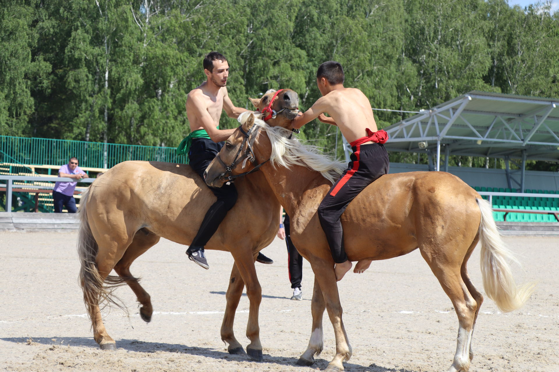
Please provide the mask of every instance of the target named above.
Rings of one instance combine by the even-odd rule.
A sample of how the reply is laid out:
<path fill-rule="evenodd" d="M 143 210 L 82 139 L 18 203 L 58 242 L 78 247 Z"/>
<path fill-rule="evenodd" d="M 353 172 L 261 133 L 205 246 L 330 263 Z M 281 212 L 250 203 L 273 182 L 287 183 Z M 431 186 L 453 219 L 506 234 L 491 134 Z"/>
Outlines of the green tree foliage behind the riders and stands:
<path fill-rule="evenodd" d="M 271 88 L 291 88 L 310 107 L 327 60 L 341 62 L 345 85 L 375 108 L 417 111 L 472 89 L 556 97 L 559 13 L 550 9 L 506 0 L 6 0 L 0 134 L 176 146 L 189 131 L 186 96 L 205 80 L 212 50 L 228 58 L 229 95 L 246 108 Z M 410 114 L 375 115 L 386 127 Z M 236 122 L 223 115 L 220 125 Z M 325 151 L 341 144 L 337 128 L 316 121 L 301 136 Z"/>

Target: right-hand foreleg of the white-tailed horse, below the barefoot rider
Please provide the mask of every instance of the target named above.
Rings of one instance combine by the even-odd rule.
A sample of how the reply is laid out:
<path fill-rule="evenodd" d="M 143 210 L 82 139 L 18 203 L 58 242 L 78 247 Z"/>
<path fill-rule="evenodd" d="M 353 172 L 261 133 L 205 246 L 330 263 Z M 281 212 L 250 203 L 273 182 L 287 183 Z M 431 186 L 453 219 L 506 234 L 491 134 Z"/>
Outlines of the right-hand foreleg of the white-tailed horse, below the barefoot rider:
<path fill-rule="evenodd" d="M 334 327 L 336 339 L 336 355 L 330 361 L 325 371 L 343 371 L 344 366 L 342 363 L 349 360 L 352 355 L 352 348 L 349 345 L 348 336 L 345 333 L 342 321 L 342 305 L 340 304 L 334 265 L 331 261 L 310 258 L 312 271 L 315 273 L 315 278 L 318 279 L 318 284 L 323 293 L 326 310 L 328 310 L 330 322 Z"/>

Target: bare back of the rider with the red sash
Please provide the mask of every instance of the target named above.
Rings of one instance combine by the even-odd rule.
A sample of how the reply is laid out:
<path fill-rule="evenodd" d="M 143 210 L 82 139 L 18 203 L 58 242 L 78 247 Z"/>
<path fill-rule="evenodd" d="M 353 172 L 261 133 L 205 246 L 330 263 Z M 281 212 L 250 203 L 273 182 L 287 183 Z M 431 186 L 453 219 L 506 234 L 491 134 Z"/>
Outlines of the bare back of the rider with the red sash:
<path fill-rule="evenodd" d="M 359 89 L 333 90 L 315 105 L 334 119 L 348 142 L 366 136 L 366 128 L 377 131 L 371 103 Z"/>

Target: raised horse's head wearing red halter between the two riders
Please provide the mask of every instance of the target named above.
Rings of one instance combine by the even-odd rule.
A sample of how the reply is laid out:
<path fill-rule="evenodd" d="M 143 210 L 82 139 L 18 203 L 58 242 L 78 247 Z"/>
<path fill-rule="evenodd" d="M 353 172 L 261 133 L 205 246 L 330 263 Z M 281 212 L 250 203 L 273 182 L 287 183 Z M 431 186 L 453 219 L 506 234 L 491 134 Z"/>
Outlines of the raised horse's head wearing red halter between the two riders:
<path fill-rule="evenodd" d="M 291 89 L 270 89 L 262 98 L 249 99 L 271 127 L 291 129 L 291 120 L 299 113 L 299 95 Z"/>

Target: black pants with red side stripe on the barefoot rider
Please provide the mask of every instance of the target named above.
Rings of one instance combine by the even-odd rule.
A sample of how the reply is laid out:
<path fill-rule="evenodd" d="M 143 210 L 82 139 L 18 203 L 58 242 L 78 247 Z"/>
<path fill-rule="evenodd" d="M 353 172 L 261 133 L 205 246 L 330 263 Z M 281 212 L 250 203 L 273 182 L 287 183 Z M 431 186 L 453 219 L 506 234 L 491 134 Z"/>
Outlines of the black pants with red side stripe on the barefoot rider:
<path fill-rule="evenodd" d="M 352 147 L 349 167 L 334 183 L 318 207 L 320 225 L 326 234 L 335 263 L 347 261 L 340 216 L 349 202 L 365 187 L 389 170 L 388 153 L 383 144 L 367 143 Z"/>

